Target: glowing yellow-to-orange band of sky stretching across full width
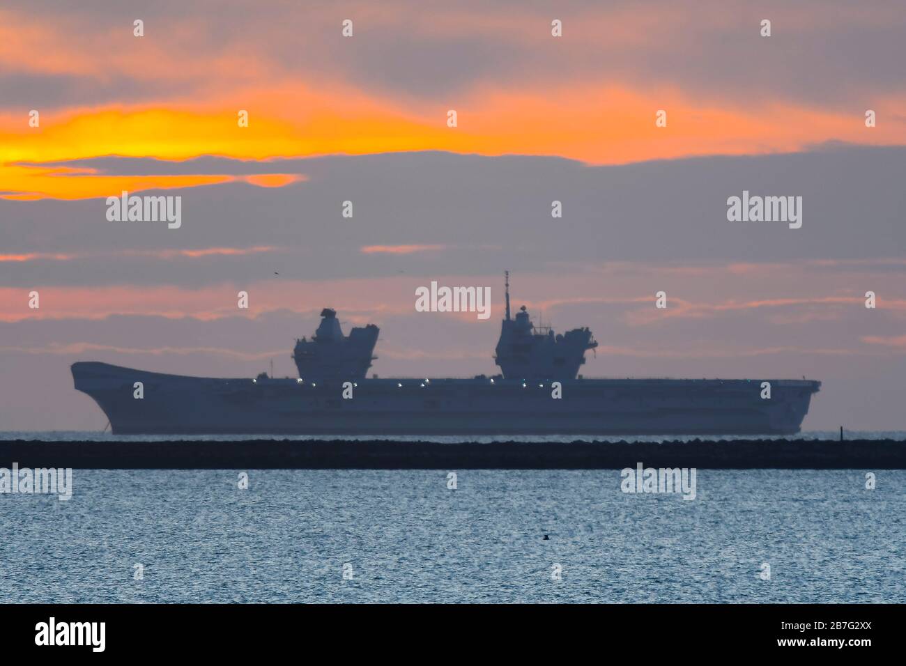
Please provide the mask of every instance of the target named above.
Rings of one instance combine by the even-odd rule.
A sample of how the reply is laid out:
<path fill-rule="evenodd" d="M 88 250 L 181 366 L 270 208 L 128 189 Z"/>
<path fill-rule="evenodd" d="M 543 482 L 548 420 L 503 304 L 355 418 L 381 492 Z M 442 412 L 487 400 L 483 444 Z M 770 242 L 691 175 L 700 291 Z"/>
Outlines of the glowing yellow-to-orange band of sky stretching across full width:
<path fill-rule="evenodd" d="M 332 95 L 334 97 L 332 97 Z M 402 110 L 387 101 L 351 99 L 341 92 L 274 90 L 248 93 L 248 127 L 237 111 L 106 109 L 44 116 L 39 128 L 23 119 L 9 130 L 0 117 L 0 192 L 5 198 L 96 198 L 150 188 L 191 188 L 243 179 L 259 187 L 284 187 L 292 174 L 107 176 L 90 169 L 42 163 L 106 155 L 185 160 L 203 155 L 236 159 L 448 150 L 480 155 L 555 155 L 588 164 L 624 164 L 722 154 L 803 150 L 841 140 L 906 144 L 906 124 L 865 128 L 858 115 L 766 103 L 740 109 L 690 101 L 680 92 L 620 88 L 568 88 L 545 92 L 475 92 L 456 109 L 458 127 L 447 126 L 446 106 Z M 333 105 L 332 105 L 333 100 Z M 208 102 L 208 105 L 211 102 Z M 223 103 L 223 102 L 218 102 Z M 899 101 L 879 101 L 892 109 Z M 655 126 L 667 111 L 668 125 Z M 879 110 L 879 114 L 882 111 Z M 884 114 L 889 115 L 889 114 Z M 26 164 L 21 164 L 26 163 Z"/>

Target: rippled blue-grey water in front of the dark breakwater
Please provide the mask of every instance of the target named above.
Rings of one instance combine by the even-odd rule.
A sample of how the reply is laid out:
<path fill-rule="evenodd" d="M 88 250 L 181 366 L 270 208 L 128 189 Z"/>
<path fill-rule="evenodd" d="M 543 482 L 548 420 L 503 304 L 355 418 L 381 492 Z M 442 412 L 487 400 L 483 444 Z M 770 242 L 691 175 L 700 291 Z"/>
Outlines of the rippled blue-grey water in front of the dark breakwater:
<path fill-rule="evenodd" d="M 906 603 L 906 471 L 866 471 L 699 469 L 685 501 L 617 470 L 76 469 L 69 501 L 0 495 L 0 603 Z"/>

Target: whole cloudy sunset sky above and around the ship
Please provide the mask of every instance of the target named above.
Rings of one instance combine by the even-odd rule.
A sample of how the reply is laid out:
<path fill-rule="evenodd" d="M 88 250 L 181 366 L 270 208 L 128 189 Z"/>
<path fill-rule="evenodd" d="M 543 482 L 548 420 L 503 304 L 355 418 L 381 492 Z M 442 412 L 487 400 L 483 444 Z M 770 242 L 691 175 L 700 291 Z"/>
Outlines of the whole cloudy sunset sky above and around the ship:
<path fill-rule="evenodd" d="M 5 0 L 0 430 L 101 430 L 75 361 L 294 376 L 324 306 L 381 376 L 493 373 L 504 270 L 592 328 L 586 377 L 806 376 L 804 430 L 906 430 L 904 37 L 897 2 Z M 490 319 L 416 312 L 435 280 Z"/>

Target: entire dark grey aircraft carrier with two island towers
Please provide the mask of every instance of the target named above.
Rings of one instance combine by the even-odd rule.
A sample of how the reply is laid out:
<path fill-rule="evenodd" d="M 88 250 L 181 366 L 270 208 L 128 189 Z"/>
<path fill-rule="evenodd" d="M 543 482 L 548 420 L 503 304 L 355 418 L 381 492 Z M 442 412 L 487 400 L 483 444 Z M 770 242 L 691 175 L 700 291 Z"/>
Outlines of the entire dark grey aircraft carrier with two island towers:
<path fill-rule="evenodd" d="M 820 381 L 584 379 L 588 328 L 554 334 L 525 305 L 506 318 L 493 376 L 367 379 L 379 329 L 342 333 L 325 308 L 296 342 L 298 378 L 188 377 L 72 364 L 116 434 L 790 435 Z M 769 397 L 766 397 L 766 384 Z"/>

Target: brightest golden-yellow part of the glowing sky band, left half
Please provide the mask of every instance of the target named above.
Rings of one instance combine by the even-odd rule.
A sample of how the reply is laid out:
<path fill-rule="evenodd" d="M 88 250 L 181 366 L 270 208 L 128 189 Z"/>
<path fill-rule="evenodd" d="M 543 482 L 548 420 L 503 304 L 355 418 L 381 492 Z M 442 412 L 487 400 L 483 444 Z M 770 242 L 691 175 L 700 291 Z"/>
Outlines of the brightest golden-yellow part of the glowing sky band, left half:
<path fill-rule="evenodd" d="M 9 119 L 0 119 L 0 127 Z M 397 122 L 313 118 L 303 127 L 254 115 L 239 127 L 235 111 L 189 112 L 82 111 L 61 121 L 44 117 L 39 128 L 20 122 L 15 131 L 0 131 L 0 194 L 4 198 L 106 198 L 122 190 L 190 188 L 237 179 L 264 188 L 279 188 L 304 179 L 296 174 L 220 174 L 105 176 L 91 169 L 40 166 L 46 162 L 115 155 L 184 160 L 201 155 L 267 159 L 332 152 L 367 153 L 393 150 L 417 132 Z M 398 139 L 394 141 L 394 136 Z M 404 150 L 429 148 L 432 142 L 410 143 Z M 21 163 L 27 163 L 21 164 Z"/>

